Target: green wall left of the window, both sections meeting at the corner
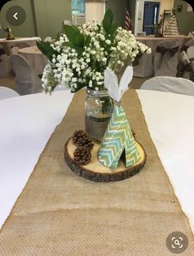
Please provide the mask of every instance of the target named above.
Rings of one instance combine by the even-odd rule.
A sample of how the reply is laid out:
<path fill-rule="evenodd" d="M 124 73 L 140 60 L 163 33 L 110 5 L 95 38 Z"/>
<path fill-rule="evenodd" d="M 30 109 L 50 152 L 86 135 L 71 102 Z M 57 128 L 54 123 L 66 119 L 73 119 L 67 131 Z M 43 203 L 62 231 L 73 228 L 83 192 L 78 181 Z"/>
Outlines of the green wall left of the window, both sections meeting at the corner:
<path fill-rule="evenodd" d="M 13 5 L 25 9 L 26 20 L 21 26 L 12 26 L 6 20 L 6 12 Z M 16 37 L 40 36 L 44 40 L 46 36 L 54 38 L 62 31 L 64 20 L 72 21 L 71 0 L 14 0 L 2 7 L 0 24 L 2 28 L 10 26 Z M 0 29 L 0 38 L 4 37 L 6 33 Z"/>

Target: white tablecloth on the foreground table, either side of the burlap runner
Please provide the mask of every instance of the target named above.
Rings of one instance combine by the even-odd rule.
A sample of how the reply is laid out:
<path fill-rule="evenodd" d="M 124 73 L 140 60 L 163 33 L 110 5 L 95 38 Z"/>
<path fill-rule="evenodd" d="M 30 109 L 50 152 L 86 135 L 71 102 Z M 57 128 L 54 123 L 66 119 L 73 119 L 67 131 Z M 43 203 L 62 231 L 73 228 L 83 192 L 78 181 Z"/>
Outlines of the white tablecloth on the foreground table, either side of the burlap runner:
<path fill-rule="evenodd" d="M 194 231 L 194 97 L 137 92 L 159 158 Z M 0 101 L 0 226 L 72 97 L 60 91 L 51 97 L 38 93 Z"/>

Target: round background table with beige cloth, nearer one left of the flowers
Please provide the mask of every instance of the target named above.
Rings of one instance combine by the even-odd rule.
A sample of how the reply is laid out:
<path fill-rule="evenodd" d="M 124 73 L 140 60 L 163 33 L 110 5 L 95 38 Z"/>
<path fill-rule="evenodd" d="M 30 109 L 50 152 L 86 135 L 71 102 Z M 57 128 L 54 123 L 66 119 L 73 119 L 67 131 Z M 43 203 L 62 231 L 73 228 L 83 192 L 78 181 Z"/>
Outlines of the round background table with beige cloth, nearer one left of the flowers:
<path fill-rule="evenodd" d="M 22 48 L 18 54 L 25 57 L 34 69 L 36 74 L 42 74 L 44 67 L 48 64 L 48 59 L 40 52 L 37 46 Z"/>

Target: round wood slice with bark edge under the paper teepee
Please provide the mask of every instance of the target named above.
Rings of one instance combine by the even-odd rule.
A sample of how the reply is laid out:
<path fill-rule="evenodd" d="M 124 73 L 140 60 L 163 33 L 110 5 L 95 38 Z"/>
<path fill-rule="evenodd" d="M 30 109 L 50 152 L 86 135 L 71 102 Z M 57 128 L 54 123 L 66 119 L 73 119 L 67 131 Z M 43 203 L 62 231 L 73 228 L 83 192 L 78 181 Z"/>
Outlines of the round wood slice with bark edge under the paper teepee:
<path fill-rule="evenodd" d="M 146 152 L 143 147 L 136 141 L 136 145 L 140 151 L 141 159 L 132 167 L 125 167 L 122 159 L 119 160 L 118 168 L 109 168 L 99 162 L 98 150 L 99 144 L 95 143 L 91 150 L 91 159 L 89 164 L 77 164 L 73 157 L 76 146 L 72 144 L 72 138 L 67 140 L 65 145 L 65 160 L 67 165 L 74 173 L 83 178 L 90 179 L 95 182 L 114 182 L 129 178 L 138 173 L 146 164 Z"/>

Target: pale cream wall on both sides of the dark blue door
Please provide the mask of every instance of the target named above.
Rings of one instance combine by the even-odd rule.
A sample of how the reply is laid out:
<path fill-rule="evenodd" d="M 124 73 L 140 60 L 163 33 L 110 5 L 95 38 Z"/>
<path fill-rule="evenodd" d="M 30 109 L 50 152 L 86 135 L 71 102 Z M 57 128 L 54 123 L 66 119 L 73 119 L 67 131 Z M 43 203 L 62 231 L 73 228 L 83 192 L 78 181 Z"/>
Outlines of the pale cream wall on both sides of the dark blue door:
<path fill-rule="evenodd" d="M 144 20 L 144 2 L 160 2 L 159 7 L 159 15 L 164 13 L 164 10 L 170 10 L 173 7 L 173 0 L 137 0 L 136 3 L 139 2 L 138 10 L 136 10 L 137 18 L 137 32 L 141 32 L 143 30 L 143 20 Z"/>

